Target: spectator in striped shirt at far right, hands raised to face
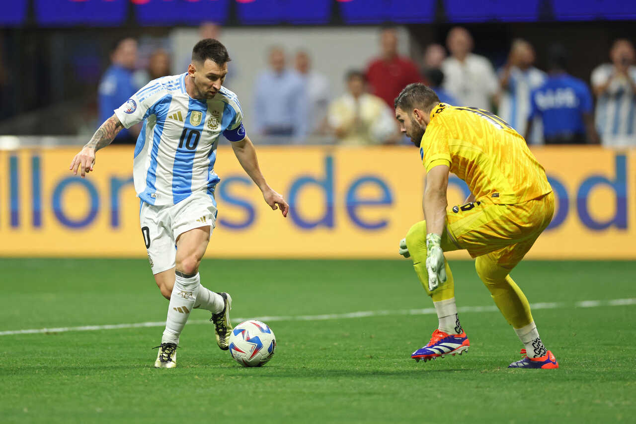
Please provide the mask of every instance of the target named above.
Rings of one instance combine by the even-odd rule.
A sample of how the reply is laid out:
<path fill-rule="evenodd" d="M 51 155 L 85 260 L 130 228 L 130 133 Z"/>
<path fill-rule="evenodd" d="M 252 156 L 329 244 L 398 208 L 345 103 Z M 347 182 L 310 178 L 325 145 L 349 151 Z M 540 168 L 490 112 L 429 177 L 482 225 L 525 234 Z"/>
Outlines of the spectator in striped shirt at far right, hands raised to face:
<path fill-rule="evenodd" d="M 604 146 L 636 146 L 634 46 L 627 39 L 617 39 L 609 57 L 612 63 L 597 66 L 591 75 L 598 133 Z"/>

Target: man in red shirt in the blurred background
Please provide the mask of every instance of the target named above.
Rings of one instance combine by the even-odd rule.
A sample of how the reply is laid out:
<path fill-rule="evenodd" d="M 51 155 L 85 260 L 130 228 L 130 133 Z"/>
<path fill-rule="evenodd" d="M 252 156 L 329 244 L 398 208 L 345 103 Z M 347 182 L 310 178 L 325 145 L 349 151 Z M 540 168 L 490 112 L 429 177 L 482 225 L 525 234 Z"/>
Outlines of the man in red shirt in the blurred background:
<path fill-rule="evenodd" d="M 422 82 L 413 60 L 397 54 L 397 31 L 386 27 L 380 33 L 381 56 L 371 61 L 366 69 L 366 80 L 371 94 L 384 100 L 391 108 L 393 101 L 406 85 Z"/>

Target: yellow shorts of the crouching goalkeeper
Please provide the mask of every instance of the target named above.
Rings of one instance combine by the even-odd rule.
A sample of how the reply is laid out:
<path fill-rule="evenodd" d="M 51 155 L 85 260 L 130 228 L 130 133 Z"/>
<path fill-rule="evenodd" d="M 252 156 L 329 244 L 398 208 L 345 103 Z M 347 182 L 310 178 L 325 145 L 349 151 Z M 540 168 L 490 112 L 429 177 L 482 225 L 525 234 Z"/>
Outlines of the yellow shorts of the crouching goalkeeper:
<path fill-rule="evenodd" d="M 551 192 L 519 204 L 495 204 L 484 198 L 453 206 L 446 211 L 441 248 L 466 249 L 473 258 L 489 254 L 497 265 L 513 269 L 548 227 L 554 212 L 555 197 Z M 426 222 L 420 221 L 406 235 L 413 262 L 416 257 L 426 258 L 426 234 Z"/>

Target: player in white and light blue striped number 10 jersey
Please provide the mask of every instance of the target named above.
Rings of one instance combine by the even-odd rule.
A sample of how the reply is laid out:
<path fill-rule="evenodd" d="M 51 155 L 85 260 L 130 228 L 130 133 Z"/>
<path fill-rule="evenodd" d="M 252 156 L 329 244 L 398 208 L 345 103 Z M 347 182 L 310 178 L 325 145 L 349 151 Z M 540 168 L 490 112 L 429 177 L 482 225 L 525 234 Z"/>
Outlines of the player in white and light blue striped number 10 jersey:
<path fill-rule="evenodd" d="M 219 348 L 228 349 L 232 297 L 202 286 L 198 274 L 216 222 L 214 187 L 219 177 L 214 162 L 221 134 L 232 142 L 265 202 L 273 210 L 280 208 L 283 216 L 289 211 L 261 174 L 237 96 L 222 87 L 229 61 L 219 41 L 202 39 L 193 49 L 187 73 L 158 78 L 141 88 L 99 127 L 70 166 L 84 177 L 93 171 L 97 150 L 122 128 L 143 121 L 133 166 L 141 231 L 157 286 L 170 300 L 158 368 L 176 367 L 179 336 L 192 309 L 212 313 Z"/>

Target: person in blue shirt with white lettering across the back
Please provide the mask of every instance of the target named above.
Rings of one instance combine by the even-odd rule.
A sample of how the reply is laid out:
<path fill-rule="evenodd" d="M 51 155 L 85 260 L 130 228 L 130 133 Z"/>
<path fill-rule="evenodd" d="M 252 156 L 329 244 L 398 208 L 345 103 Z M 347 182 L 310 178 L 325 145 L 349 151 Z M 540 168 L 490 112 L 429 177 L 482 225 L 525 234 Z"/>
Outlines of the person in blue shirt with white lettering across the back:
<path fill-rule="evenodd" d="M 525 139 L 529 139 L 530 121 L 538 116 L 543 121 L 546 145 L 598 144 L 590 88 L 565 72 L 565 59 L 565 48 L 558 45 L 550 48 L 548 78 L 530 94 L 530 116 Z"/>

